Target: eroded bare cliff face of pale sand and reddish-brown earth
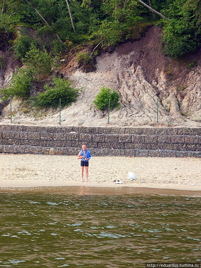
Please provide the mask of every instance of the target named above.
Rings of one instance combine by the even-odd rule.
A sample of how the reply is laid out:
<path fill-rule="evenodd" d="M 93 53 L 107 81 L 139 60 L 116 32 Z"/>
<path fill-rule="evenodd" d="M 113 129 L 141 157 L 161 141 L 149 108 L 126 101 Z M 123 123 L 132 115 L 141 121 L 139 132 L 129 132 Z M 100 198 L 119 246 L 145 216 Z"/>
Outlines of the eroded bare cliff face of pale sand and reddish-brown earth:
<path fill-rule="evenodd" d="M 200 126 L 201 50 L 172 60 L 161 53 L 161 33 L 160 28 L 151 27 L 140 40 L 98 56 L 97 69 L 90 73 L 74 68 L 72 60 L 62 63 L 64 75 L 82 89 L 77 102 L 61 111 L 62 125 L 156 126 L 158 99 L 158 126 Z M 121 107 L 110 111 L 109 124 L 107 112 L 93 104 L 102 85 L 120 94 Z M 4 111 L 6 108 L 2 115 Z M 24 118 L 17 112 L 15 121 L 28 124 Z M 35 120 L 35 124 L 56 125 L 58 113 Z"/>

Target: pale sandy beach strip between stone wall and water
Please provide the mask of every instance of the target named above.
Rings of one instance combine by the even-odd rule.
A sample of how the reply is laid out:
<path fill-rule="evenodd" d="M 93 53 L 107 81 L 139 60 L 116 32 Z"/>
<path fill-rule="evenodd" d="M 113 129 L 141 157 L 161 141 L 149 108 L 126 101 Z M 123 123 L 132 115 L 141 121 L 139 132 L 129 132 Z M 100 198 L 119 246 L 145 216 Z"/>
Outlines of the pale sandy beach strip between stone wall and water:
<path fill-rule="evenodd" d="M 77 156 L 0 154 L 0 188 L 24 186 L 134 187 L 200 191 L 198 158 L 92 157 L 89 180 L 80 178 Z M 128 179 L 132 171 L 136 179 Z M 121 180 L 115 184 L 113 180 Z"/>

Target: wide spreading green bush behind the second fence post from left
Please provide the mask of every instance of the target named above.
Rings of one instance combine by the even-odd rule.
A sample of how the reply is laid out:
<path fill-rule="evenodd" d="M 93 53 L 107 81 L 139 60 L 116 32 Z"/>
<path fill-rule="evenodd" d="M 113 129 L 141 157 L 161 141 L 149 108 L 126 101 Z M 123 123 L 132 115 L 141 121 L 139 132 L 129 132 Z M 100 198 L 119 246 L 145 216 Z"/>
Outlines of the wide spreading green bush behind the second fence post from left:
<path fill-rule="evenodd" d="M 48 84 L 44 86 L 46 91 L 38 94 L 34 106 L 57 106 L 60 98 L 63 105 L 68 105 L 76 100 L 78 89 L 71 87 L 70 80 L 65 81 L 62 78 L 54 77 L 52 82 L 52 87 Z"/>

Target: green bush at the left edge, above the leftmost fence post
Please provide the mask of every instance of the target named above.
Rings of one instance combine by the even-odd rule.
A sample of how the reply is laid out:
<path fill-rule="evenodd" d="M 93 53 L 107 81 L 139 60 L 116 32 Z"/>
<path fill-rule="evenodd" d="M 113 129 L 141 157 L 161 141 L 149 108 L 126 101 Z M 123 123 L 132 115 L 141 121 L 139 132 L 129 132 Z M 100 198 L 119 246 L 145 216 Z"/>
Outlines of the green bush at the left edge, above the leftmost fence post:
<path fill-rule="evenodd" d="M 18 73 L 13 74 L 13 78 L 8 88 L 1 89 L 4 100 L 9 97 L 22 97 L 23 99 L 28 97 L 29 89 L 32 85 L 32 72 L 29 68 L 19 69 Z"/>

